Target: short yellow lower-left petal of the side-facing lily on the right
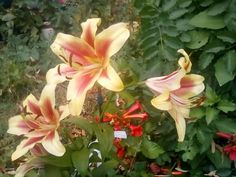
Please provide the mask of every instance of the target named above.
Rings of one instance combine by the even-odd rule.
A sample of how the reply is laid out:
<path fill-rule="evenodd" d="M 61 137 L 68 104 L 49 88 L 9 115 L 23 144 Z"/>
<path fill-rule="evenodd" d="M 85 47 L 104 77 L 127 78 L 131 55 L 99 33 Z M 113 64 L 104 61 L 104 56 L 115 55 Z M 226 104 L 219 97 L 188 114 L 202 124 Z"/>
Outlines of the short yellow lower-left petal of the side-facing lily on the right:
<path fill-rule="evenodd" d="M 157 96 L 156 98 L 153 98 L 151 100 L 151 104 L 160 110 L 170 110 L 172 108 L 171 102 L 169 101 L 169 92 L 164 92 L 161 95 Z"/>

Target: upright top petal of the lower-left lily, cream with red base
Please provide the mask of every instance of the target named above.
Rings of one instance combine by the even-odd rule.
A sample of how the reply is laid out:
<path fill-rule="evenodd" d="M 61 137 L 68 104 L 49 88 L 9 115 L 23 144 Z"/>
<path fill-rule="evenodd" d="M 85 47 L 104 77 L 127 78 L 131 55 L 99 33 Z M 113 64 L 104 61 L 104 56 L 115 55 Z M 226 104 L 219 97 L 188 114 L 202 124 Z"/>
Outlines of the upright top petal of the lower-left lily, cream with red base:
<path fill-rule="evenodd" d="M 58 122 L 59 113 L 54 109 L 55 106 L 55 88 L 56 85 L 46 85 L 40 97 L 40 109 L 47 122 Z"/>

